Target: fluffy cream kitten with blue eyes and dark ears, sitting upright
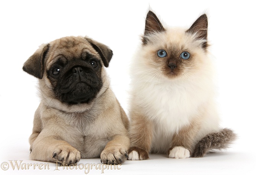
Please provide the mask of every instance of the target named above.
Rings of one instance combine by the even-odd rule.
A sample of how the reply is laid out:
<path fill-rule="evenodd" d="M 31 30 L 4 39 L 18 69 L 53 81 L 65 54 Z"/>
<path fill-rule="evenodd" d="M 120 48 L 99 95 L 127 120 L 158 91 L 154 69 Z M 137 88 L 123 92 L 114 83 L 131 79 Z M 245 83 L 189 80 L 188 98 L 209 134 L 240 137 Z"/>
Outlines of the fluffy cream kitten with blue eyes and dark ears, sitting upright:
<path fill-rule="evenodd" d="M 129 160 L 202 157 L 235 140 L 219 126 L 207 26 L 203 14 L 188 30 L 165 28 L 148 12 L 131 70 Z"/>

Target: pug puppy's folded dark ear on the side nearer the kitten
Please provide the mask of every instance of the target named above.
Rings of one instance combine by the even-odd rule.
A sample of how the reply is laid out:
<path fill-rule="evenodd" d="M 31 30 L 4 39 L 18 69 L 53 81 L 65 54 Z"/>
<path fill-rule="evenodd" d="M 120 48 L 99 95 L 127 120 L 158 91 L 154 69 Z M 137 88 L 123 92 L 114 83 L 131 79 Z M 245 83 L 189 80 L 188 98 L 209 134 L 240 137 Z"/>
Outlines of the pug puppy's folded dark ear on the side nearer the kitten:
<path fill-rule="evenodd" d="M 91 46 L 99 53 L 99 56 L 101 57 L 104 66 L 108 67 L 109 62 L 113 56 L 113 51 L 106 45 L 96 42 L 95 40 L 92 40 L 90 38 L 85 38 Z"/>

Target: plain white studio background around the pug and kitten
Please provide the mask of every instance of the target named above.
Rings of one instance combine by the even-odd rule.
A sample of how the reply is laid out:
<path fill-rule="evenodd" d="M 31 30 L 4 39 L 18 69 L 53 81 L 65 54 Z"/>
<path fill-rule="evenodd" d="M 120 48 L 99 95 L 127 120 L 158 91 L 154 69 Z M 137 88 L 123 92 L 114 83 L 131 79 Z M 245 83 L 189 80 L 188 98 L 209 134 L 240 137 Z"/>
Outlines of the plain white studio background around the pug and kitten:
<path fill-rule="evenodd" d="M 189 27 L 205 11 L 209 41 L 215 56 L 218 105 L 222 126 L 239 138 L 232 148 L 203 158 L 168 159 L 152 155 L 146 161 L 126 161 L 121 170 L 105 174 L 252 174 L 255 172 L 255 8 L 253 1 L 1 1 L 0 2 L 0 163 L 28 160 L 28 138 L 40 100 L 37 79 L 22 71 L 23 63 L 41 43 L 64 36 L 89 36 L 114 52 L 107 71 L 121 105 L 127 111 L 128 69 L 140 44 L 145 16 L 151 8 L 164 24 Z M 45 163 L 45 162 L 43 162 Z M 82 159 L 79 163 L 99 163 Z M 76 173 L 83 170 L 16 170 L 10 173 Z M 100 170 L 90 174 L 100 174 Z"/>

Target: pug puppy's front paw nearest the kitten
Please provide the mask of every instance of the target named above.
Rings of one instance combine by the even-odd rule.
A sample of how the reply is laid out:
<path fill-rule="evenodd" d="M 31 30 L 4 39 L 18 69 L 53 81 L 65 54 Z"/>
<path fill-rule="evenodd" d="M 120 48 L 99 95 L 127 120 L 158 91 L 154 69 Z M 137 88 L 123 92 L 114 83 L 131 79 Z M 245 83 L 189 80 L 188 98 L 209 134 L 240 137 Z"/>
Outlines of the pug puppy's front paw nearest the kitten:
<path fill-rule="evenodd" d="M 124 148 L 117 148 L 116 146 L 111 146 L 105 148 L 101 155 L 101 163 L 103 164 L 121 164 L 127 157 L 128 152 Z"/>

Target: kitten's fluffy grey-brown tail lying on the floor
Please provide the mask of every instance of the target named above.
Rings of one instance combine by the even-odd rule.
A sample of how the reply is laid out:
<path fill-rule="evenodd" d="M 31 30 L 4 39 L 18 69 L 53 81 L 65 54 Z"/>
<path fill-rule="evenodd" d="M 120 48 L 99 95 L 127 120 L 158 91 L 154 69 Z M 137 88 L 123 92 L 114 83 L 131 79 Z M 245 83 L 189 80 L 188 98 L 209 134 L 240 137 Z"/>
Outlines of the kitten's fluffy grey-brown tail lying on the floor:
<path fill-rule="evenodd" d="M 203 157 L 211 149 L 225 149 L 236 139 L 236 134 L 228 128 L 210 133 L 197 144 L 191 157 Z"/>

